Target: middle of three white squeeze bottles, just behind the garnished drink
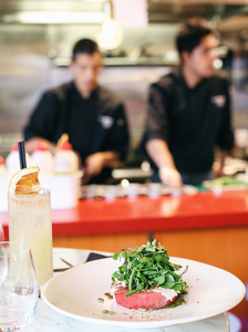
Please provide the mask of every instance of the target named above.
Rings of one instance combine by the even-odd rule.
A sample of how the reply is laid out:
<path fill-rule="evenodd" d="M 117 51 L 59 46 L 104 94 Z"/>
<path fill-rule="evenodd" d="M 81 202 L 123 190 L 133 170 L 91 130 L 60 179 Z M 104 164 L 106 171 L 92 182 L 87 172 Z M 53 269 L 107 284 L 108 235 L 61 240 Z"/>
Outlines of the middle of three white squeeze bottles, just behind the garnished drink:
<path fill-rule="evenodd" d="M 48 145 L 42 139 L 35 146 L 31 156 L 31 166 L 40 167 L 40 175 L 52 175 L 54 173 L 54 157 L 48 151 Z"/>

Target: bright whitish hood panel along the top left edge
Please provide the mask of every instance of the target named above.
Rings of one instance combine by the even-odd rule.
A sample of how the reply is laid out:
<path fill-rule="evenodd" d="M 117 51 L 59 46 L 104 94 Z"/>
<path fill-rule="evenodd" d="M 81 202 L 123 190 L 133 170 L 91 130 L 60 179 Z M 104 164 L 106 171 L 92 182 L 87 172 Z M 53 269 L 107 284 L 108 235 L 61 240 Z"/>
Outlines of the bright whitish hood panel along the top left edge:
<path fill-rule="evenodd" d="M 101 24 L 111 17 L 107 0 L 0 0 L 0 23 Z"/>

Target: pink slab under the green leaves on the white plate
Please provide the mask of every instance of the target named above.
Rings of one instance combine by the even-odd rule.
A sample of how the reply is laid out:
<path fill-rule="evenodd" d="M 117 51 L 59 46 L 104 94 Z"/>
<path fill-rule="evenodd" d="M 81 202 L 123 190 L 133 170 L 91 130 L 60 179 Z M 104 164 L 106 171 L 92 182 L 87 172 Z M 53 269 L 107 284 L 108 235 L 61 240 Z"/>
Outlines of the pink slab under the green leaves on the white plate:
<path fill-rule="evenodd" d="M 125 294 L 127 292 L 128 290 L 118 288 L 114 292 L 114 298 L 117 304 L 121 304 L 128 309 L 161 309 L 173 303 L 178 297 L 178 294 L 176 294 L 173 299 L 167 299 L 162 292 L 157 291 L 142 291 L 141 293 L 134 293 L 130 297 L 126 297 Z"/>

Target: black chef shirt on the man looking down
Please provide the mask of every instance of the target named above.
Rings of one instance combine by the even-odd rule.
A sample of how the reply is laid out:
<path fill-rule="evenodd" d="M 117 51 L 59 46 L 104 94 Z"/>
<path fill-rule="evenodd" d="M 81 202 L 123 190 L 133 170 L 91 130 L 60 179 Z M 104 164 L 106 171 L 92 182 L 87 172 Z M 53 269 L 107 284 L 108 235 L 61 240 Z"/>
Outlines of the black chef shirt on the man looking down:
<path fill-rule="evenodd" d="M 83 163 L 96 152 L 112 151 L 123 159 L 128 148 L 124 106 L 115 94 L 99 86 L 83 98 L 73 82 L 45 92 L 29 124 L 24 138 L 43 137 L 56 143 L 68 133 Z"/>

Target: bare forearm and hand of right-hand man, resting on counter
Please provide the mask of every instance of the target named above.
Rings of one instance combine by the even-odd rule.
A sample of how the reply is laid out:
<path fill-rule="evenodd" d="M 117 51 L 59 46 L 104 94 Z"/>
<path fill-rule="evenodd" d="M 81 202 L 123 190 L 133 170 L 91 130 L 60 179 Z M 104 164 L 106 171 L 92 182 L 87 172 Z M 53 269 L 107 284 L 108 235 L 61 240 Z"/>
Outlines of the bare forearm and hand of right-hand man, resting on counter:
<path fill-rule="evenodd" d="M 158 167 L 162 181 L 169 187 L 179 188 L 182 186 L 182 177 L 176 169 L 167 143 L 159 138 L 149 139 L 146 143 L 146 151 Z"/>

